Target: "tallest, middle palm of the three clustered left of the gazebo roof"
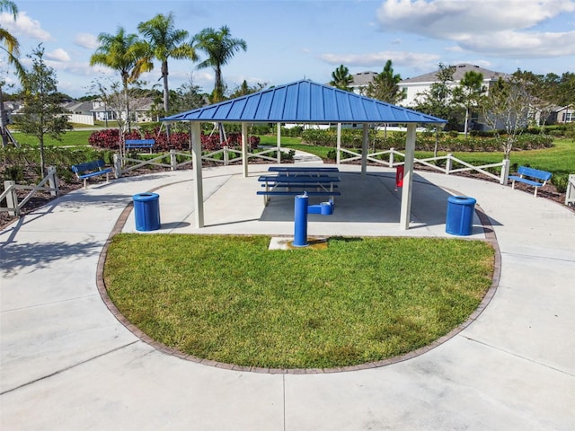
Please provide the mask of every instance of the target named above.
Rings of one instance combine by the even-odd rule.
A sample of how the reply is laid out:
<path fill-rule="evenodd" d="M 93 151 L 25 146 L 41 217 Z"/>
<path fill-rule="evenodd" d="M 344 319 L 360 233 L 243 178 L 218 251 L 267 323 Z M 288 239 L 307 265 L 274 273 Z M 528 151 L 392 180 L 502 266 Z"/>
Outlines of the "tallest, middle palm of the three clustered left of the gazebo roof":
<path fill-rule="evenodd" d="M 173 25 L 173 14 L 165 16 L 157 14 L 147 22 L 140 22 L 137 31 L 142 33 L 155 58 L 162 63 L 162 79 L 164 81 L 164 112 L 167 114 L 169 106 L 168 87 L 168 58 L 185 59 L 196 61 L 198 56 L 188 39 L 188 31 L 176 30 Z"/>

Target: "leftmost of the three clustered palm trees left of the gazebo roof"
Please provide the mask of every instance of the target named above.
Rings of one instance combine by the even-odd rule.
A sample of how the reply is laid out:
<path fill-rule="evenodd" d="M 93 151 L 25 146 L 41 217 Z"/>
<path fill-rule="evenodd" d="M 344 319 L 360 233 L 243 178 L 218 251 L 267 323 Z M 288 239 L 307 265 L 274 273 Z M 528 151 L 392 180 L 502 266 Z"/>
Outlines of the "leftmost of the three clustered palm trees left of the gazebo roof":
<path fill-rule="evenodd" d="M 130 110 L 128 85 L 137 82 L 144 72 L 149 72 L 154 66 L 147 44 L 137 39 L 136 34 L 126 34 L 119 27 L 116 34 L 100 33 L 100 47 L 90 57 L 90 65 L 102 65 L 119 72 L 126 106 L 126 119 L 130 128 Z"/>

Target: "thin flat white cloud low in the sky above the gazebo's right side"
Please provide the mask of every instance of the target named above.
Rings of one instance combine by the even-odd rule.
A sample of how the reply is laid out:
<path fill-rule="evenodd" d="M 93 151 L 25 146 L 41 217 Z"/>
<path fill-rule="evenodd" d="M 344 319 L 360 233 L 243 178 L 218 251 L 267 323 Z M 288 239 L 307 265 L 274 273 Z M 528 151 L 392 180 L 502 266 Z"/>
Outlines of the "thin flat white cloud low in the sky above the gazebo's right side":
<path fill-rule="evenodd" d="M 331 65 L 383 67 L 387 60 L 392 60 L 394 66 L 420 66 L 421 64 L 437 64 L 439 56 L 408 51 L 382 51 L 371 54 L 322 54 L 323 61 Z"/>

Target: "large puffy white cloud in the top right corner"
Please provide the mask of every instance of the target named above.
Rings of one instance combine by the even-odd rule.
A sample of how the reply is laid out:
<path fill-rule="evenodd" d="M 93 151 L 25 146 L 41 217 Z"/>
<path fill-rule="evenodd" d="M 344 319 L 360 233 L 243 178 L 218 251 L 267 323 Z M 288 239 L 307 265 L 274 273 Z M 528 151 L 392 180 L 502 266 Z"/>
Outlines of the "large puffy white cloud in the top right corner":
<path fill-rule="evenodd" d="M 565 43 L 572 31 L 540 32 L 535 26 L 575 12 L 573 0 L 386 0 L 377 10 L 382 31 L 403 31 L 452 40 L 461 48 L 512 57 L 559 57 L 575 53 Z M 570 46 L 571 45 L 571 46 Z"/>

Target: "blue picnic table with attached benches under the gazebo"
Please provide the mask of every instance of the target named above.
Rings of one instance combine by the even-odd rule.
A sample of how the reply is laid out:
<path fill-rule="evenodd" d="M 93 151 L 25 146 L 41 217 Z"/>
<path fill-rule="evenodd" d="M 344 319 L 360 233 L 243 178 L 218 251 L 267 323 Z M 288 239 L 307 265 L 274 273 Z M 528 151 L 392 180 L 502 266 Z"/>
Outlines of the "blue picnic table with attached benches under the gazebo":
<path fill-rule="evenodd" d="M 306 192 L 309 196 L 329 196 L 332 198 L 340 196 L 336 191 L 337 182 L 340 177 L 327 174 L 307 172 L 298 175 L 286 175 L 283 172 L 279 175 L 261 175 L 258 181 L 263 182 L 265 190 L 257 191 L 263 196 L 264 204 L 268 204 L 271 196 L 296 196 Z"/>

